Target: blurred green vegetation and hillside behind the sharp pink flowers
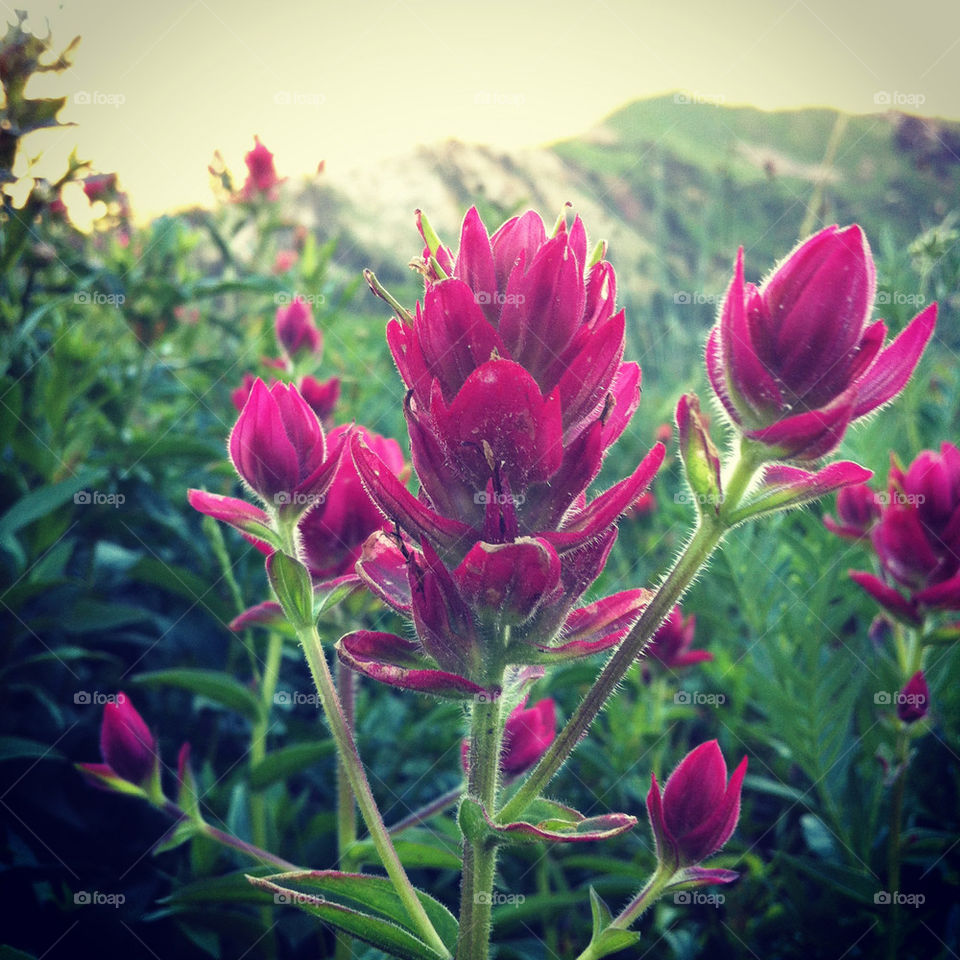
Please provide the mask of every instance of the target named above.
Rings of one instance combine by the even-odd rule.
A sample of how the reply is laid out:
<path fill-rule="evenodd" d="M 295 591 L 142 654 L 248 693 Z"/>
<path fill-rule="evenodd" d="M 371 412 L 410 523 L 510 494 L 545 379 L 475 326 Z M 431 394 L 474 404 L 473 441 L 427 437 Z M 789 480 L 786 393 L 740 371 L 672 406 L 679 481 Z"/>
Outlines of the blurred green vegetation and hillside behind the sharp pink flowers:
<path fill-rule="evenodd" d="M 23 136 L 57 124 L 59 100 L 31 100 L 25 80 L 65 69 L 44 43 L 11 27 L 0 177 Z M 211 144 L 211 149 L 216 145 Z M 306 917 L 263 911 L 243 880 L 250 864 L 206 841 L 165 844 L 170 826 L 134 800 L 98 793 L 72 762 L 94 760 L 103 698 L 126 691 L 161 745 L 166 773 L 193 747 L 207 818 L 249 837 L 251 798 L 268 810 L 270 848 L 326 867 L 335 860 L 333 753 L 310 704 L 269 717 L 266 760 L 251 763 L 262 632 L 226 624 L 267 597 L 262 557 L 187 507 L 188 487 L 237 494 L 225 458 L 230 392 L 276 353 L 273 314 L 312 298 L 323 328 L 319 373 L 343 383 L 338 423 L 356 420 L 405 443 L 402 386 L 384 342 L 388 314 L 361 286 L 372 267 L 401 302 L 420 290 L 412 212 L 425 206 L 456 245 L 476 203 L 491 229 L 527 206 L 546 220 L 570 201 L 593 239 L 610 241 L 627 309 L 627 359 L 644 371 L 631 427 L 599 486 L 633 469 L 669 424 L 676 400 L 706 396 L 702 350 L 738 246 L 759 281 L 804 233 L 861 223 L 879 275 L 877 312 L 897 332 L 937 299 L 935 342 L 893 407 L 845 441 L 843 455 L 885 477 L 960 438 L 957 327 L 960 125 L 902 114 L 762 113 L 691 102 L 637 102 L 583 138 L 503 155 L 446 143 L 385 170 L 380 188 L 323 177 L 282 185 L 277 202 L 238 202 L 215 165 L 209 208 L 138 225 L 119 181 L 72 160 L 63 181 L 5 194 L 0 249 L 0 904 L 6 957 L 325 956 L 332 939 Z M 96 158 L 92 158 L 95 162 Z M 95 222 L 81 233 L 58 204 L 90 184 Z M 278 259 L 278 255 L 280 258 Z M 722 433 L 717 422 L 716 431 Z M 675 464 L 656 505 L 622 522 L 594 596 L 653 585 L 691 523 Z M 725 903 L 661 904 L 644 921 L 644 955 L 873 958 L 890 935 L 884 857 L 889 789 L 878 757 L 892 740 L 890 650 L 869 628 L 876 610 L 847 579 L 869 562 L 820 516 L 830 505 L 731 536 L 688 596 L 696 645 L 711 663 L 682 675 L 637 669 L 552 787 L 586 814 L 644 821 L 649 775 L 662 779 L 691 746 L 717 737 L 730 762 L 747 754 L 740 826 L 717 858 L 742 870 Z M 324 625 L 331 641 L 356 618 L 397 629 L 356 601 Z M 915 743 L 905 804 L 898 956 L 955 956 L 960 942 L 960 677 L 956 645 L 928 664 L 929 730 Z M 196 684 L 160 671 L 216 671 Z M 597 664 L 552 672 L 534 697 L 574 709 Z M 311 692 L 301 655 L 285 650 L 281 688 Z M 679 695 L 678 695 L 679 694 Z M 461 708 L 359 690 L 358 738 L 388 822 L 459 782 Z M 406 856 L 416 883 L 454 905 L 452 819 L 433 821 Z M 152 853 L 155 846 L 169 847 Z M 498 956 L 575 956 L 589 936 L 586 888 L 622 902 L 653 863 L 644 825 L 586 852 L 539 847 L 504 856 L 498 889 L 523 894 L 497 913 Z M 78 905 L 82 891 L 122 894 L 118 908 Z M 886 911 L 886 912 L 885 912 Z M 278 922 L 279 921 L 279 922 Z M 365 955 L 358 948 L 357 956 Z M 373 953 L 369 953 L 373 956 Z"/>

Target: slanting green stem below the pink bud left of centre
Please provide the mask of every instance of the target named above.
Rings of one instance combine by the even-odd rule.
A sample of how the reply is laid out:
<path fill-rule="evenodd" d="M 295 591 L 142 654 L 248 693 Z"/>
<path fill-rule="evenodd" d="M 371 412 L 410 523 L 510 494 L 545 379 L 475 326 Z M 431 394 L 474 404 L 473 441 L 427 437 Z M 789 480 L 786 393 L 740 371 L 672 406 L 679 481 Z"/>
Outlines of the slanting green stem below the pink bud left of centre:
<path fill-rule="evenodd" d="M 330 732 L 337 744 L 337 752 L 343 761 L 344 769 L 350 786 L 353 789 L 357 806 L 363 816 L 367 830 L 370 832 L 370 838 L 377 850 L 380 860 L 388 876 L 393 881 L 393 886 L 397 891 L 397 896 L 403 901 L 407 908 L 410 918 L 416 924 L 427 945 L 435 950 L 442 957 L 449 957 L 450 952 L 444 946 L 437 931 L 434 930 L 430 918 L 423 909 L 423 904 L 417 897 L 417 893 L 400 863 L 397 851 L 387 834 L 387 828 L 384 825 L 383 817 L 377 807 L 376 800 L 373 798 L 373 792 L 370 789 L 370 783 L 363 769 L 363 763 L 360 760 L 360 754 L 357 751 L 356 742 L 353 739 L 353 732 L 344 716 L 343 706 L 340 698 L 337 696 L 336 688 L 333 685 L 333 677 L 330 675 L 330 668 L 327 666 L 326 657 L 323 655 L 323 649 L 320 645 L 320 636 L 317 633 L 316 626 L 308 628 L 298 628 L 297 634 L 300 643 L 303 645 L 303 651 L 307 658 L 307 664 L 310 667 L 310 673 L 313 676 L 313 682 L 316 685 L 317 693 L 320 696 L 320 703 L 326 714 L 327 722 L 330 725 Z"/>

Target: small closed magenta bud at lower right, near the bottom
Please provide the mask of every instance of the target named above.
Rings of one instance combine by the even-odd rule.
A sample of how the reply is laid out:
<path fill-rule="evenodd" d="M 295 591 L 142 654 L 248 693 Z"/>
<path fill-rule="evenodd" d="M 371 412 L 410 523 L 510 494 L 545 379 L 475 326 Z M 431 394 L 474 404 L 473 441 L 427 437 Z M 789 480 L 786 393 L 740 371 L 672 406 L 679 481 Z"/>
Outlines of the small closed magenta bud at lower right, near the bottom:
<path fill-rule="evenodd" d="M 651 775 L 647 814 L 653 828 L 657 859 L 674 871 L 696 867 L 730 839 L 740 817 L 740 788 L 747 758 L 727 780 L 727 765 L 716 740 L 700 744 L 670 774 L 663 793 Z M 710 878 L 710 875 L 715 876 Z M 703 883 L 726 883 L 729 870 L 700 870 Z"/>

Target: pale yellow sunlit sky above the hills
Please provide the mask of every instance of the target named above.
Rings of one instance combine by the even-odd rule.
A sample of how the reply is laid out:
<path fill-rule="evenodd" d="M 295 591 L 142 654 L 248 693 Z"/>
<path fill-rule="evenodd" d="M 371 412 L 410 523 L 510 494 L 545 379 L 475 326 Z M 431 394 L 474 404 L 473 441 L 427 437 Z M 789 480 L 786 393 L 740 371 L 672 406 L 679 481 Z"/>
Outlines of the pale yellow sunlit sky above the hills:
<path fill-rule="evenodd" d="M 27 3 L 75 66 L 77 126 L 36 135 L 116 170 L 138 217 L 209 203 L 259 134 L 281 175 L 390 163 L 448 137 L 522 147 L 575 136 L 671 90 L 764 109 L 892 106 L 960 118 L 955 0 L 251 0 Z M 9 8 L 8 8 L 9 10 Z M 12 17 L 12 11 L 8 12 Z M 84 102 L 89 101 L 89 102 Z"/>

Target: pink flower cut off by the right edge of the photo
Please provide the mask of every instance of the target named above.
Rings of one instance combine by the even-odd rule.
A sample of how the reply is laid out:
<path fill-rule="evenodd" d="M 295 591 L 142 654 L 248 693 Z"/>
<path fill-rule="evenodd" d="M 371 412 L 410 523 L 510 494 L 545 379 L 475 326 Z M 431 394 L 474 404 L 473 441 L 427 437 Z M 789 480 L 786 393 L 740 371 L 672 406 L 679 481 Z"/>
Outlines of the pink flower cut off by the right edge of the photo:
<path fill-rule="evenodd" d="M 885 500 L 870 532 L 882 578 L 850 576 L 914 623 L 925 607 L 960 609 L 960 450 L 944 443 L 939 453 L 924 450 L 906 472 L 894 465 Z"/>

